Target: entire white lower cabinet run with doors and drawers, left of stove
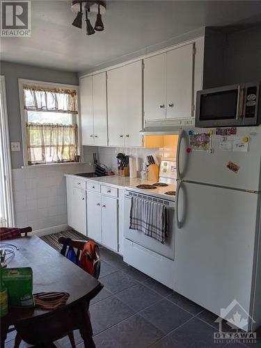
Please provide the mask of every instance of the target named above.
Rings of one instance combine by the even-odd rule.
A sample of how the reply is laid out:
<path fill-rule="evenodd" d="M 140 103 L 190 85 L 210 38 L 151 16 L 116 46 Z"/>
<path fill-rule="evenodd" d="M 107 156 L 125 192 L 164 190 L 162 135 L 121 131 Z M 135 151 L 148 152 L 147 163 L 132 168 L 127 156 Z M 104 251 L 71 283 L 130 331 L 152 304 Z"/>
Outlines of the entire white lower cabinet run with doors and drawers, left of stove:
<path fill-rule="evenodd" d="M 122 253 L 122 245 L 119 246 L 119 230 L 122 230 L 119 224 L 122 223 L 119 219 L 123 221 L 123 216 L 118 207 L 118 189 L 102 185 L 100 193 L 99 183 L 79 180 L 74 175 L 66 177 L 66 187 L 68 225 L 95 242 Z"/>

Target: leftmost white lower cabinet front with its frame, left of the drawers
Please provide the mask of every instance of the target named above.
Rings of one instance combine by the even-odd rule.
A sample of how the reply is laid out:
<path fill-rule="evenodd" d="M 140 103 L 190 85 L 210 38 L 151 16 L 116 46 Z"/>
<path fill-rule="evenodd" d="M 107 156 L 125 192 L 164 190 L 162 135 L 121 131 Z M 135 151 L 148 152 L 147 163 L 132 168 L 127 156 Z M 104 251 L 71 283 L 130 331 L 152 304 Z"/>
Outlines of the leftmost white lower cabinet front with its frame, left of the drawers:
<path fill-rule="evenodd" d="M 69 186 L 69 185 L 68 185 Z M 87 235 L 86 229 L 86 191 L 70 186 L 67 190 L 68 225 L 82 235 Z"/>

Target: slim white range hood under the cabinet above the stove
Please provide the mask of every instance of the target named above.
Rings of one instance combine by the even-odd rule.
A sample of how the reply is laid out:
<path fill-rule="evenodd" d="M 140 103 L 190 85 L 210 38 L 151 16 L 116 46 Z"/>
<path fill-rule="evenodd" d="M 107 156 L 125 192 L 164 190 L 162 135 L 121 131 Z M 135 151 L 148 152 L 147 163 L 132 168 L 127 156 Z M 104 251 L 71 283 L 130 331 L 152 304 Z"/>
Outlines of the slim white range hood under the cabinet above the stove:
<path fill-rule="evenodd" d="M 144 127 L 141 129 L 141 135 L 173 135 L 179 134 L 180 129 L 184 127 L 193 127 L 195 121 L 193 118 L 177 120 L 145 120 Z"/>

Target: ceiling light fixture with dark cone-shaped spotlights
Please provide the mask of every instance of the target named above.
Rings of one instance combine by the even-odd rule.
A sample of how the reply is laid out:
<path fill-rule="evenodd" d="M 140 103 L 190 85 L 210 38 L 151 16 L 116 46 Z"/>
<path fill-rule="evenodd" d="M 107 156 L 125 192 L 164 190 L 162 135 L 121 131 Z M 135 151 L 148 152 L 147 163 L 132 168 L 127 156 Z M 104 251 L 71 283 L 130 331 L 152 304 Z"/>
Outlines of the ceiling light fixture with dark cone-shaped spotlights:
<path fill-rule="evenodd" d="M 73 26 L 77 28 L 82 28 L 82 16 L 83 10 L 86 12 L 86 35 L 92 35 L 95 31 L 104 31 L 104 24 L 102 22 L 102 15 L 106 12 L 106 3 L 105 1 L 84 1 L 84 0 L 74 0 L 72 1 L 72 12 L 77 13 L 74 21 L 72 22 Z M 90 23 L 90 17 L 96 15 L 95 27 L 93 29 L 92 24 Z"/>

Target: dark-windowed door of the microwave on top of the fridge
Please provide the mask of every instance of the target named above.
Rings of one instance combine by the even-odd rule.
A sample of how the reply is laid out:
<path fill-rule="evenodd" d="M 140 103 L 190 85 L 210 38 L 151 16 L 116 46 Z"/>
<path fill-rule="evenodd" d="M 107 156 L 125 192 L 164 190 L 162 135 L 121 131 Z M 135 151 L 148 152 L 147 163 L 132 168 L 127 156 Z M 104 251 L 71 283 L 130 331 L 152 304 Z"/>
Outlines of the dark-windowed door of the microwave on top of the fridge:
<path fill-rule="evenodd" d="M 199 90 L 196 100 L 196 127 L 226 127 L 243 124 L 242 85 Z"/>

